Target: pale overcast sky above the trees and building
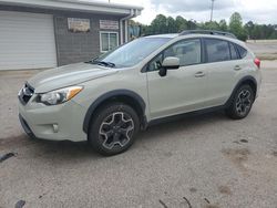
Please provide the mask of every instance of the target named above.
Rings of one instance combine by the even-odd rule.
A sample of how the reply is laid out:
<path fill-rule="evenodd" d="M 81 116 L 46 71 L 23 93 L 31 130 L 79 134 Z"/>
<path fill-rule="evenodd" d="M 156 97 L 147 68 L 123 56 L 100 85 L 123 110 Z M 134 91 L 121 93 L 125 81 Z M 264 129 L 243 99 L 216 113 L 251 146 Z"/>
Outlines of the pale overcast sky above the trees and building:
<path fill-rule="evenodd" d="M 100 0 L 107 2 L 109 0 Z M 158 13 L 183 15 L 185 19 L 208 21 L 211 0 L 111 0 L 113 3 L 141 6 L 144 8 L 136 21 L 148 24 Z M 238 11 L 244 22 L 277 24 L 277 0 L 215 0 L 214 19 L 228 21 L 230 14 Z"/>

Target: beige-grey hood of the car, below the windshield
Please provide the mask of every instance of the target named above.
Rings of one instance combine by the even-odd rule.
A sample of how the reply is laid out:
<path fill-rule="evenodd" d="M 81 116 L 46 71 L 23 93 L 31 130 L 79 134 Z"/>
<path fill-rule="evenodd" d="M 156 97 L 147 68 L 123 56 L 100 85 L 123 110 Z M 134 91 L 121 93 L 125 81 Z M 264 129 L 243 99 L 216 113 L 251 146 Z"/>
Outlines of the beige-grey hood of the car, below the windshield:
<path fill-rule="evenodd" d="M 28 83 L 34 87 L 35 93 L 44 93 L 114 74 L 116 72 L 115 69 L 103 67 L 95 64 L 75 63 L 43 71 L 32 76 Z"/>

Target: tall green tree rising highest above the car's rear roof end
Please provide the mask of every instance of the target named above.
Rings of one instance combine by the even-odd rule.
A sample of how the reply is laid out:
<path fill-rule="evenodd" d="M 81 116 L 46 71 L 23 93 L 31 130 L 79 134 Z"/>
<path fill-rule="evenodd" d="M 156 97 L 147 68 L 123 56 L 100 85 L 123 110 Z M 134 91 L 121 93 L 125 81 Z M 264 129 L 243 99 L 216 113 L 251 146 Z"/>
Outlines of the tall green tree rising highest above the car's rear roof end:
<path fill-rule="evenodd" d="M 235 12 L 229 18 L 229 31 L 234 33 L 239 40 L 246 41 L 247 33 L 243 28 L 243 19 L 238 12 Z"/>

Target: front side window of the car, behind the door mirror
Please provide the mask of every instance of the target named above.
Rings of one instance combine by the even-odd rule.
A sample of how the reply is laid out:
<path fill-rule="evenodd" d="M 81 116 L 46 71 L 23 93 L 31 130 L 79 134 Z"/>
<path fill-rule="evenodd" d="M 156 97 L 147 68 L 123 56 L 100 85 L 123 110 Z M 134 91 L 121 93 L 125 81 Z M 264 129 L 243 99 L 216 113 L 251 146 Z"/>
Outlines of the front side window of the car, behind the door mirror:
<path fill-rule="evenodd" d="M 179 65 L 193 65 L 201 63 L 201 40 L 184 40 L 174 43 L 155 56 L 150 63 L 147 71 L 157 71 L 162 67 L 163 60 L 168 56 L 179 59 Z"/>

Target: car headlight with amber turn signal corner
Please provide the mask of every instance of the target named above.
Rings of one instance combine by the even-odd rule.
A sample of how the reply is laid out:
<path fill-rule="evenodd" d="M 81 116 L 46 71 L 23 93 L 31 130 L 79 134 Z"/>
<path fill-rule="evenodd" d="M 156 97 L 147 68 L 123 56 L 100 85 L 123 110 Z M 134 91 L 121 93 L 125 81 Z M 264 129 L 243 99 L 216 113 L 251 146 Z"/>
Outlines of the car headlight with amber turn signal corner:
<path fill-rule="evenodd" d="M 45 105 L 58 105 L 70 101 L 82 90 L 82 86 L 70 86 L 65 89 L 60 89 L 48 93 L 39 94 L 37 101 Z"/>

